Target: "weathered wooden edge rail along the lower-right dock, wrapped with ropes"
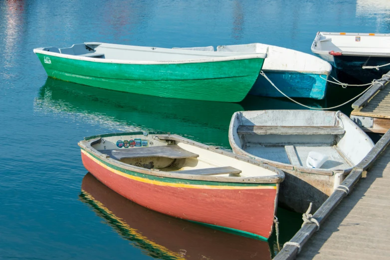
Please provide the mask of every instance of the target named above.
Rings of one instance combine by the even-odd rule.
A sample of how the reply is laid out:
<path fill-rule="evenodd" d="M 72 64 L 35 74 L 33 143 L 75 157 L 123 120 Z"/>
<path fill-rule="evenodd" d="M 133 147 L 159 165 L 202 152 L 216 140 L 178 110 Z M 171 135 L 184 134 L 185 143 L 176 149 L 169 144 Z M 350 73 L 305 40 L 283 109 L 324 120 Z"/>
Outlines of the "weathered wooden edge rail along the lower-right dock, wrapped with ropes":
<path fill-rule="evenodd" d="M 354 185 L 362 177 L 362 172 L 369 169 L 380 154 L 386 149 L 390 143 L 390 130 L 378 141 L 375 147 L 367 154 L 367 156 L 358 164 L 341 185 L 348 187 L 352 191 Z M 330 213 L 337 207 L 342 199 L 347 196 L 347 193 L 341 190 L 335 190 L 333 194 L 324 202 L 324 204 L 313 214 L 320 226 L 325 222 Z M 311 236 L 317 231 L 317 224 L 305 224 L 289 241 L 299 244 L 299 247 L 293 245 L 286 245 L 276 255 L 274 260 L 292 260 L 295 259 L 300 249 L 306 244 Z"/>

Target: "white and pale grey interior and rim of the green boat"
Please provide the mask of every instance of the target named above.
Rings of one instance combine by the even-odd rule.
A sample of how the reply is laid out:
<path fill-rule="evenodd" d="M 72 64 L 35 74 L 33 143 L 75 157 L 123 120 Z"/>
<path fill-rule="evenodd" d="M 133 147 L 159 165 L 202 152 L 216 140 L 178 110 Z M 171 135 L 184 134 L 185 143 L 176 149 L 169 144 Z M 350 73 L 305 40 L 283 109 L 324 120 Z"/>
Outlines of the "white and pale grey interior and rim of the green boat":
<path fill-rule="evenodd" d="M 73 44 L 71 47 L 68 48 L 46 47 L 38 49 L 53 53 L 76 55 L 80 57 L 133 61 L 183 61 L 209 59 L 213 57 L 233 57 L 248 54 L 259 54 L 260 56 L 262 55 L 263 58 L 266 57 L 266 49 L 258 49 L 252 46 L 250 47 L 250 50 L 259 52 L 225 52 L 219 50 L 214 51 L 213 46 L 169 49 L 110 44 L 101 42 L 85 42 L 80 44 Z"/>

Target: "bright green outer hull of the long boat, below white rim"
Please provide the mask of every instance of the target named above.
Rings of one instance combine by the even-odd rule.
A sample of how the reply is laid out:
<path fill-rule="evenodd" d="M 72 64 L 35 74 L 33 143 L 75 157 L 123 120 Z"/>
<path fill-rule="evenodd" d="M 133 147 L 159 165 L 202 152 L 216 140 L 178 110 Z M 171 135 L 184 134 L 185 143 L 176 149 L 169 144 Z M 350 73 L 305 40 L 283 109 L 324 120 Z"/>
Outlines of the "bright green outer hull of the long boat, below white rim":
<path fill-rule="evenodd" d="M 251 58 L 149 65 L 36 54 L 47 75 L 52 78 L 122 92 L 220 102 L 243 100 L 264 62 L 262 58 Z"/>

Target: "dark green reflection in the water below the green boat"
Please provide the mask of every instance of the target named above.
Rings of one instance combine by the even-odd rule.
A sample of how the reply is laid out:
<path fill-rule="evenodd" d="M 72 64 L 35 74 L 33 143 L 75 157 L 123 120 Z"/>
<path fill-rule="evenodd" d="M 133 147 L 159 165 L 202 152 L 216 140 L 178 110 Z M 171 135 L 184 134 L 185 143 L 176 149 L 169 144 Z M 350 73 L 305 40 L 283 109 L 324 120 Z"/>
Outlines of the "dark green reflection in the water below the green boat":
<path fill-rule="evenodd" d="M 231 115 L 240 104 L 161 98 L 93 88 L 47 78 L 35 110 L 66 113 L 76 121 L 119 131 L 166 131 L 229 147 Z"/>

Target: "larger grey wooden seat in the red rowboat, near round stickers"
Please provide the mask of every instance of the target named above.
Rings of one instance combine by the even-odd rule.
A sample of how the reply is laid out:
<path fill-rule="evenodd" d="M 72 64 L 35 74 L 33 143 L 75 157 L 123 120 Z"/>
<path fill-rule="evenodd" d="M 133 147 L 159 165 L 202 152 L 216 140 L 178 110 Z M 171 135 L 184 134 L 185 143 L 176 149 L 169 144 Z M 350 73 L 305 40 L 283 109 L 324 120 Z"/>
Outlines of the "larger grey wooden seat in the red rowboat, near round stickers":
<path fill-rule="evenodd" d="M 172 159 L 199 157 L 198 154 L 187 151 L 178 145 L 163 145 L 152 147 L 132 147 L 113 150 L 99 150 L 99 152 L 109 155 L 111 158 L 121 160 L 124 158 L 143 157 L 167 157 Z"/>

